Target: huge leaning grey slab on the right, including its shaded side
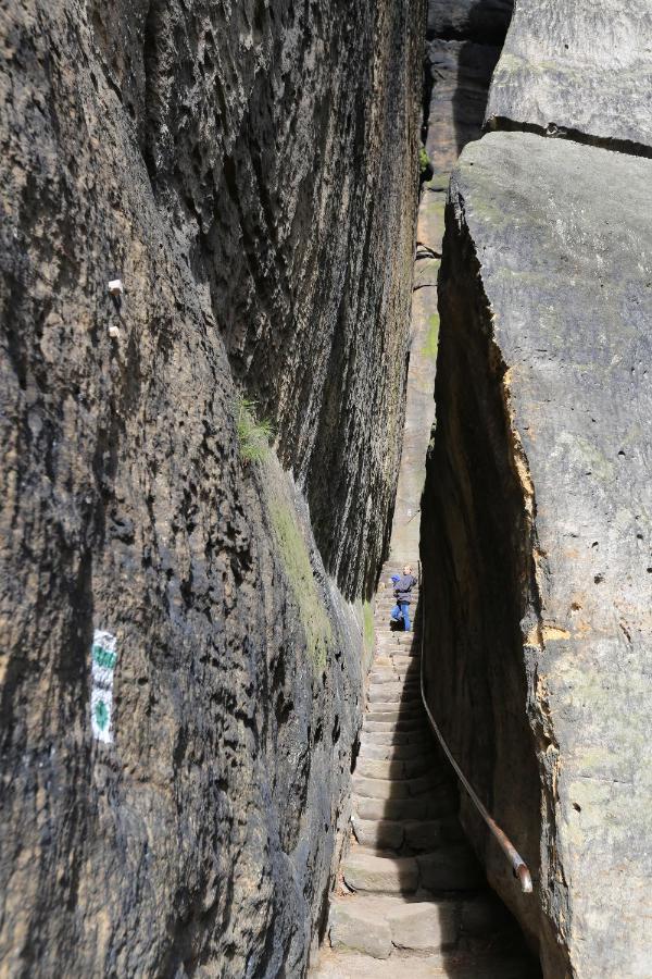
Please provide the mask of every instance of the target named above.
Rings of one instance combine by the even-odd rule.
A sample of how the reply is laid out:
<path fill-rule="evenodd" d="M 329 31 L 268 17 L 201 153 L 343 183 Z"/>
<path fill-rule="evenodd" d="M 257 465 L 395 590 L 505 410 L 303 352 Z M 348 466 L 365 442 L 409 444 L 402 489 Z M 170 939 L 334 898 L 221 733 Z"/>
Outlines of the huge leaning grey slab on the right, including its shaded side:
<path fill-rule="evenodd" d="M 650 975 L 652 163 L 471 144 L 440 277 L 429 697 L 534 870 L 489 878 L 544 975 Z"/>

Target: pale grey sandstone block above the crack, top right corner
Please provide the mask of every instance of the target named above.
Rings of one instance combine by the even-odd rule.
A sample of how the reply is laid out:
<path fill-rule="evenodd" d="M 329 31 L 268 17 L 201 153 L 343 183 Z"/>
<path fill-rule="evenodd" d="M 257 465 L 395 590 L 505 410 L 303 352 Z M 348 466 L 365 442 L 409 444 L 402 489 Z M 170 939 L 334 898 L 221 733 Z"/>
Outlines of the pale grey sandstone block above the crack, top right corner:
<path fill-rule="evenodd" d="M 648 0 L 516 0 L 489 125 L 652 156 L 651 36 Z"/>

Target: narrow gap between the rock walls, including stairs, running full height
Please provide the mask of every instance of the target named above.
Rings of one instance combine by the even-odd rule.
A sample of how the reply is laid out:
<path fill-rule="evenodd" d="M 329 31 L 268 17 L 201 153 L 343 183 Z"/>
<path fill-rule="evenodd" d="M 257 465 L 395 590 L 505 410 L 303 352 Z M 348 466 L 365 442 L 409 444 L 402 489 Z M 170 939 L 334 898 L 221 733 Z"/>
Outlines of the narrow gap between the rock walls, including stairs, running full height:
<path fill-rule="evenodd" d="M 435 5 L 431 4 L 431 12 Z M 440 27 L 447 36 L 460 37 L 459 25 L 450 32 Z M 431 574 L 429 582 L 424 579 L 427 597 L 418 602 L 416 609 L 412 606 L 414 632 L 394 631 L 388 621 L 393 604 L 389 575 L 392 571 L 400 573 L 405 561 L 416 567 L 419 548 L 418 503 L 434 414 L 443 191 L 459 149 L 469 136 L 480 135 L 489 78 L 500 52 L 493 45 L 482 45 L 481 35 L 473 36 L 473 42 L 464 35 L 454 41 L 429 35 L 428 41 L 428 63 L 435 70 L 431 74 L 426 72 L 424 83 L 429 102 L 425 138 L 435 172 L 424 182 L 419 202 L 408 407 L 390 542 L 392 558 L 384 568 L 375 597 L 375 657 L 353 781 L 353 842 L 331 902 L 329 950 L 324 952 L 316 972 L 325 979 L 343 975 L 421 976 L 419 970 L 424 970 L 423 975 L 435 970 L 441 975 L 473 974 L 501 979 L 540 975 L 525 949 L 523 934 L 506 908 L 490 895 L 479 864 L 464 840 L 456 817 L 460 797 L 454 774 L 432 739 L 422 704 L 422 640 L 426 679 L 440 693 L 446 690 L 441 695 L 449 698 L 449 707 L 455 693 L 438 672 L 437 642 L 448 636 L 432 635 Z M 492 40 L 498 36 L 491 33 Z M 446 243 L 443 250 L 446 253 Z M 496 345 L 492 349 L 498 350 Z M 438 371 L 448 367 L 440 351 Z M 497 363 L 497 372 L 501 384 L 496 414 L 502 411 L 504 416 L 509 407 L 502 386 L 504 364 Z M 485 429 L 478 429 L 478 439 L 486 436 Z M 516 512 L 522 487 L 517 473 L 513 475 Z M 422 554 L 431 545 L 430 503 L 428 494 L 424 494 Z M 504 544 L 503 549 L 506 552 Z M 447 582 L 454 570 L 442 570 Z M 430 572 L 428 562 L 427 573 Z M 524 689 L 523 680 L 519 692 Z M 501 745 L 481 743 L 481 720 L 473 731 L 476 759 L 484 766 L 480 783 L 485 790 Z M 492 732 L 492 726 L 487 723 L 485 730 Z M 529 735 L 527 724 L 524 731 Z M 535 766 L 535 801 L 536 777 Z M 491 792 L 486 795 L 491 804 Z M 462 811 L 466 815 L 465 804 Z M 473 839 L 473 833 L 469 835 Z M 502 852 L 500 858 L 504 868 Z M 511 885 L 518 890 L 513 879 Z M 476 926 L 479 930 L 475 930 Z M 530 929 L 529 938 L 536 947 L 535 929 Z"/>

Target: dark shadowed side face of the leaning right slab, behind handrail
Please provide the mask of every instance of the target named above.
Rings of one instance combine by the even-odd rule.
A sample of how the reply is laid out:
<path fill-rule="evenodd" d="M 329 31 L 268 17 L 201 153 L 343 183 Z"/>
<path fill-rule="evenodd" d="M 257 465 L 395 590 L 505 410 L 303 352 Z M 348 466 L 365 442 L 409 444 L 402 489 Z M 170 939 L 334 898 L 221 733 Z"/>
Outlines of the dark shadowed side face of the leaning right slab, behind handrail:
<path fill-rule="evenodd" d="M 546 571 L 527 459 L 511 418 L 509 372 L 496 345 L 462 199 L 456 208 L 451 205 L 447 214 L 438 426 L 422 501 L 424 596 L 430 609 L 425 646 L 438 650 L 426 659 L 427 691 L 455 759 L 534 872 L 536 895 L 522 894 L 504 854 L 463 793 L 462 821 L 488 879 L 538 949 L 542 929 L 553 937 L 551 922 L 540 920 L 540 902 L 559 872 L 555 830 L 553 814 L 547 818 L 541 806 L 554 790 L 557 748 L 544 704 L 529 697 L 531 677 L 522 649 L 526 635 L 541 628 L 539 590 Z M 504 714 L 512 719 L 509 729 Z M 546 793 L 539 786 L 538 753 L 550 761 L 542 772 Z M 503 773 L 503 784 L 497 772 Z M 517 780 L 510 772 L 518 772 Z M 550 845 L 540 888 L 542 821 Z M 567 971 L 561 947 L 554 967 L 556 975 Z"/>

